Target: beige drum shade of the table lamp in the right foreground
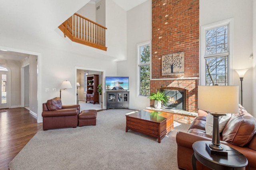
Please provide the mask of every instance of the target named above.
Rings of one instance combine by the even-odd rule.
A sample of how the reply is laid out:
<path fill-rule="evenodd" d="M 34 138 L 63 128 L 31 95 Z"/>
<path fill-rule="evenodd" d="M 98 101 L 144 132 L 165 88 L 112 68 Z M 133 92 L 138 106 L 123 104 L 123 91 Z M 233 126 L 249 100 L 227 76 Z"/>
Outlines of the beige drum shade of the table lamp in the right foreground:
<path fill-rule="evenodd" d="M 238 113 L 238 86 L 198 86 L 198 109 Z"/>

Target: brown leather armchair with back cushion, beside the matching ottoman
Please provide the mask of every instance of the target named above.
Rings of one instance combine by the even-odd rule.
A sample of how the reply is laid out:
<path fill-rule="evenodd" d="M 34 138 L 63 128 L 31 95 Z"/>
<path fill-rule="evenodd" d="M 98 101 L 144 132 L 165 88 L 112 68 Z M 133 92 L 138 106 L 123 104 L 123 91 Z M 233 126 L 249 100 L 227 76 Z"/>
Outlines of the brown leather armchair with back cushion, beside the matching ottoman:
<path fill-rule="evenodd" d="M 43 103 L 43 129 L 57 129 L 64 127 L 77 127 L 80 105 L 62 106 L 59 97 Z"/>

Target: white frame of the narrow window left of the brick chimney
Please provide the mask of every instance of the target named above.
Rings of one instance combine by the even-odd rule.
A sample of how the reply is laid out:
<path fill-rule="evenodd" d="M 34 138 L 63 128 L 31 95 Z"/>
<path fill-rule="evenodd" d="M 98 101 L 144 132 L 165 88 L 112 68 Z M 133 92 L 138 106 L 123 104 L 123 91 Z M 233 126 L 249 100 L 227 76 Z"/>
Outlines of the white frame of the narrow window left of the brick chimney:
<path fill-rule="evenodd" d="M 143 63 L 143 64 L 140 64 L 140 47 L 142 47 L 142 46 L 145 46 L 145 45 L 150 45 L 150 47 L 149 47 L 149 50 L 150 50 L 150 61 L 149 61 L 149 63 Z M 147 66 L 147 65 L 149 65 L 149 69 L 150 69 L 150 80 L 151 80 L 151 61 L 152 61 L 152 54 L 151 54 L 151 41 L 144 41 L 144 42 L 142 42 L 142 43 L 138 43 L 138 44 L 136 44 L 136 58 L 137 58 L 137 60 L 136 60 L 136 66 L 137 66 L 137 68 L 136 68 L 136 72 L 137 72 L 137 74 L 136 74 L 136 76 L 137 76 L 137 78 L 136 78 L 136 96 L 139 96 L 139 97 L 144 97 L 144 98 L 148 98 L 148 96 L 149 95 L 140 95 L 140 66 Z"/>

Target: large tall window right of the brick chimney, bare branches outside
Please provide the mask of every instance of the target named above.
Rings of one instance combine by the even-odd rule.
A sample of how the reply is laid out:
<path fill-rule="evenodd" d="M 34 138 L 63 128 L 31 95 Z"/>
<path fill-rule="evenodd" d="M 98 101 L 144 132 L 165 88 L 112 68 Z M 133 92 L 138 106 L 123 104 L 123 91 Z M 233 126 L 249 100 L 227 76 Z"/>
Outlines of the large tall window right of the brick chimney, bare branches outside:
<path fill-rule="evenodd" d="M 232 20 L 202 26 L 201 84 L 227 86 L 231 84 Z"/>

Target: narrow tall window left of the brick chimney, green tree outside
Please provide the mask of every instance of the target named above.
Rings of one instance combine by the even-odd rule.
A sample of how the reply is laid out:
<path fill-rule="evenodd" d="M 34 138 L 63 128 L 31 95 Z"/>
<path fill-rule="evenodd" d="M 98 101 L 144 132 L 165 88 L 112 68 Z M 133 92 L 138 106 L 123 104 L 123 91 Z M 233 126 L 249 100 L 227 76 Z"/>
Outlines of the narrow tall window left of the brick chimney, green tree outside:
<path fill-rule="evenodd" d="M 150 95 L 150 41 L 137 45 L 138 59 L 138 94 L 140 96 Z"/>

